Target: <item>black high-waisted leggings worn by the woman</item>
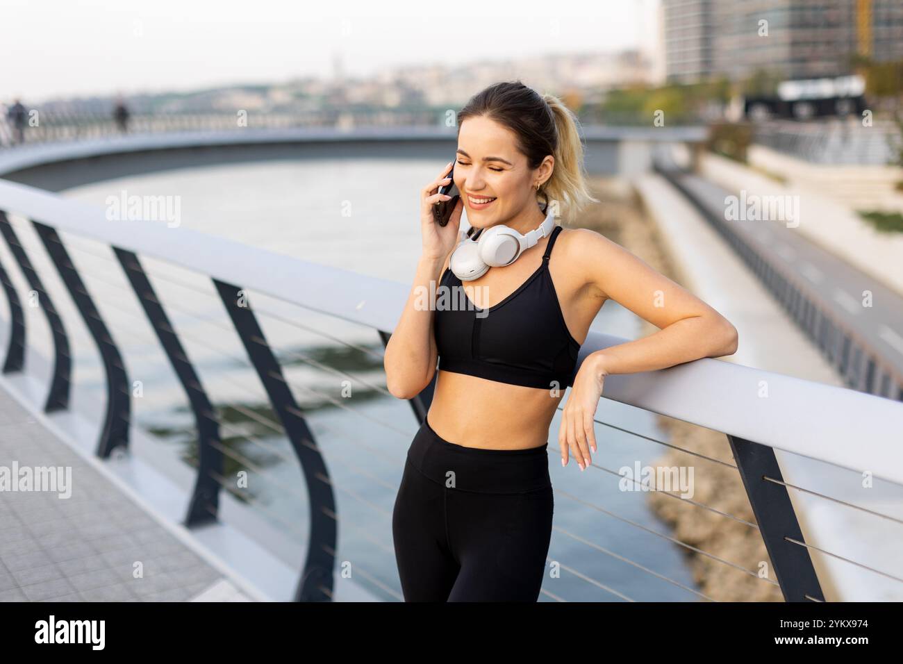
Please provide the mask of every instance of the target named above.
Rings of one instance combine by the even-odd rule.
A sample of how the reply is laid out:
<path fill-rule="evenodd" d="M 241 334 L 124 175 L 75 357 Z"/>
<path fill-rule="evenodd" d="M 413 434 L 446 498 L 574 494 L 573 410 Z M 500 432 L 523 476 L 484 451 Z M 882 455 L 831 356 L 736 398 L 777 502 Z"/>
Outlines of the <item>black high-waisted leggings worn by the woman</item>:
<path fill-rule="evenodd" d="M 392 513 L 405 602 L 536 601 L 552 538 L 547 447 L 465 447 L 424 417 Z"/>

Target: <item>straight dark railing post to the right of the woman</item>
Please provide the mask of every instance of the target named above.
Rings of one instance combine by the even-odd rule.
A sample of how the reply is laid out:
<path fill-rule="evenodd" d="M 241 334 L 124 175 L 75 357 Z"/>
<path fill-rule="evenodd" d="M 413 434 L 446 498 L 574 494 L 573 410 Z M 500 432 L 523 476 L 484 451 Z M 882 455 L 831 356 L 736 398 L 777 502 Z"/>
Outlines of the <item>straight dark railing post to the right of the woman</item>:
<path fill-rule="evenodd" d="M 809 550 L 787 540 L 805 541 L 787 487 L 766 479 L 784 482 L 774 449 L 734 435 L 727 436 L 785 601 L 824 602 Z"/>

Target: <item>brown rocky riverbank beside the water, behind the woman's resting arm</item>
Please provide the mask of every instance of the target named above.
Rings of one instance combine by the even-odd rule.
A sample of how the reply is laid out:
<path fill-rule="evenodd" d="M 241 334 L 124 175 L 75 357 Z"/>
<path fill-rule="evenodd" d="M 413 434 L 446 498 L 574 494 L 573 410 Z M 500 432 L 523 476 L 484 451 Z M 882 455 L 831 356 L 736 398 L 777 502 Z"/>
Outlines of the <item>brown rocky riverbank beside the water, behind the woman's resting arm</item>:
<path fill-rule="evenodd" d="M 591 185 L 593 195 L 601 202 L 584 212 L 582 226 L 596 230 L 661 274 L 684 284 L 680 267 L 667 256 L 655 223 L 645 213 L 642 201 L 629 183 L 619 178 L 595 178 Z M 657 330 L 655 325 L 644 321 L 640 335 L 647 336 Z M 777 585 L 759 578 L 767 573 L 769 579 L 776 581 L 759 529 L 736 520 L 756 522 L 740 474 L 735 468 L 682 451 L 688 450 L 733 466 L 727 437 L 670 417 L 656 418 L 667 441 L 681 449 L 663 446 L 663 454 L 650 465 L 680 467 L 692 464 L 692 500 L 711 509 L 662 491 L 644 494 L 652 510 L 671 528 L 670 535 L 687 545 L 680 548 L 688 557 L 699 591 L 718 601 L 783 602 Z M 666 532 L 666 528 L 661 532 Z"/>

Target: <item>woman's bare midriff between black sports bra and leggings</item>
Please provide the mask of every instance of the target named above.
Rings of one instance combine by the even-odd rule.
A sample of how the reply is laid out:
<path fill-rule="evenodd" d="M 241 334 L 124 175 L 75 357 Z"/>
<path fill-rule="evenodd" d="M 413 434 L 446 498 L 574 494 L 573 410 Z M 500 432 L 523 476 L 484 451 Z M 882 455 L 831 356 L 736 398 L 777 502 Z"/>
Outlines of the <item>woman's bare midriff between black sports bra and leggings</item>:
<path fill-rule="evenodd" d="M 449 443 L 515 450 L 548 442 L 564 388 L 526 388 L 452 371 L 438 371 L 427 419 Z"/>

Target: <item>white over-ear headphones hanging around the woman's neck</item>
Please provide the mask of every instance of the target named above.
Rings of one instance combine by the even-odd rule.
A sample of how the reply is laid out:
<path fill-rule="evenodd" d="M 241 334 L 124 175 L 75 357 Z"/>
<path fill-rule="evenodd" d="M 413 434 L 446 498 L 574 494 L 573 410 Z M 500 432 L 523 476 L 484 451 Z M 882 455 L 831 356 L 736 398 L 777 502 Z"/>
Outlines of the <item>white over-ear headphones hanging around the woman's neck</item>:
<path fill-rule="evenodd" d="M 461 281 L 479 279 L 487 273 L 489 267 L 504 267 L 514 263 L 526 249 L 535 247 L 539 238 L 548 237 L 554 226 L 555 218 L 550 210 L 539 228 L 526 235 L 521 235 L 504 224 L 479 229 L 478 240 L 467 237 L 461 239 L 449 258 L 449 267 Z"/>

